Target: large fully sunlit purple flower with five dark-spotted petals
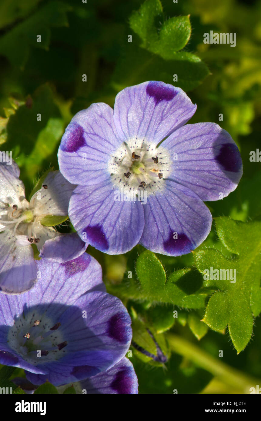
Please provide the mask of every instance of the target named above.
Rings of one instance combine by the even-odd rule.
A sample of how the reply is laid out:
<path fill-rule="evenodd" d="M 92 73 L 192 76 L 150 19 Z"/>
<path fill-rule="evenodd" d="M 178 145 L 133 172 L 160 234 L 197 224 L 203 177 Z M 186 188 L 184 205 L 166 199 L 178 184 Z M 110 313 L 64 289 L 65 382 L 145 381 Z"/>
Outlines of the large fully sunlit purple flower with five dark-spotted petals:
<path fill-rule="evenodd" d="M 69 216 L 83 240 L 108 254 L 140 243 L 170 256 L 204 241 L 203 201 L 237 187 L 242 160 L 219 125 L 185 125 L 195 111 L 180 88 L 151 81 L 119 92 L 114 109 L 97 103 L 73 117 L 58 159 L 78 184 Z"/>

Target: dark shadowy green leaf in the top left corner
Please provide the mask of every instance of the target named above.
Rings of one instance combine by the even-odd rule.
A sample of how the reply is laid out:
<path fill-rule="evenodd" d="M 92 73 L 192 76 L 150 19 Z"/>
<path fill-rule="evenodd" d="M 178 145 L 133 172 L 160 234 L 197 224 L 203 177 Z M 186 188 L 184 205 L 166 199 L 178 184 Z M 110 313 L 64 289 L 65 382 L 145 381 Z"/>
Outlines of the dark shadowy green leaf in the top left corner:
<path fill-rule="evenodd" d="M 59 1 L 43 5 L 0 38 L 0 54 L 6 56 L 13 66 L 24 68 L 32 47 L 48 49 L 50 27 L 68 25 L 66 12 L 69 10 L 69 5 Z M 41 35 L 41 42 L 37 42 L 38 35 Z"/>

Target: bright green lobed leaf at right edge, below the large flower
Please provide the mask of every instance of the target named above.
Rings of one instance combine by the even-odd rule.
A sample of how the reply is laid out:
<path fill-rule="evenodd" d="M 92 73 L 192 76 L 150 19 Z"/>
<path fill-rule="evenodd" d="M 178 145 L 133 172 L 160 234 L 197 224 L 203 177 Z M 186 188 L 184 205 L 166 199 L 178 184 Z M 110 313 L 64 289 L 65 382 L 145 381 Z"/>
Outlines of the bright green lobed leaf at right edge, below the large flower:
<path fill-rule="evenodd" d="M 207 269 L 211 277 L 212 270 L 212 277 L 217 278 L 204 281 L 205 287 L 216 292 L 207 304 L 203 320 L 214 330 L 228 325 L 231 340 L 239 353 L 252 336 L 253 317 L 261 312 L 261 222 L 245 223 L 220 217 L 215 219 L 215 223 L 223 245 L 236 256 L 227 258 L 213 248 L 195 253 L 199 271 L 204 273 Z M 225 274 L 221 270 L 227 269 L 229 279 L 219 279 Z M 236 282 L 230 274 L 232 278 L 236 274 Z"/>

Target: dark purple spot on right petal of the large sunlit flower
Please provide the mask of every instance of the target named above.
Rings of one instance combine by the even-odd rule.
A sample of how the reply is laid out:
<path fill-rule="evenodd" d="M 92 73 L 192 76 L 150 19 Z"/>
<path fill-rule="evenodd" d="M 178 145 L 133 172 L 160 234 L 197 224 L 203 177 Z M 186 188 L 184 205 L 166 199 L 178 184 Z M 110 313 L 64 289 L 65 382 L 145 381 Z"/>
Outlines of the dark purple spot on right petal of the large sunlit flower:
<path fill-rule="evenodd" d="M 222 145 L 216 160 L 224 170 L 237 173 L 242 166 L 242 160 L 237 145 L 226 143 Z"/>

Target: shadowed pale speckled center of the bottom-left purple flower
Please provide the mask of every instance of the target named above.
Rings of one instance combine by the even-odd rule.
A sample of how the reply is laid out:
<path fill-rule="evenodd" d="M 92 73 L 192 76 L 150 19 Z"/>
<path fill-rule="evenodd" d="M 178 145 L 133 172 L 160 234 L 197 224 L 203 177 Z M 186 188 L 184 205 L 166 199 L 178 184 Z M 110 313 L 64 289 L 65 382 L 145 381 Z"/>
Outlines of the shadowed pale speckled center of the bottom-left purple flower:
<path fill-rule="evenodd" d="M 18 317 L 8 332 L 9 346 L 30 364 L 59 360 L 67 346 L 60 323 L 55 323 L 46 314 L 38 316 L 37 310 Z"/>

